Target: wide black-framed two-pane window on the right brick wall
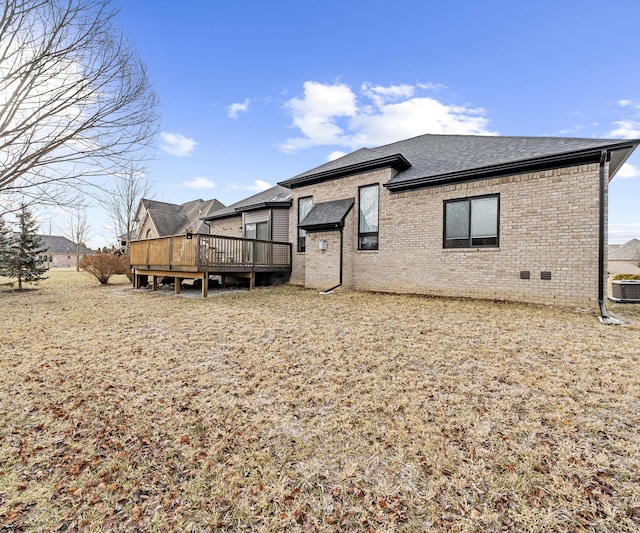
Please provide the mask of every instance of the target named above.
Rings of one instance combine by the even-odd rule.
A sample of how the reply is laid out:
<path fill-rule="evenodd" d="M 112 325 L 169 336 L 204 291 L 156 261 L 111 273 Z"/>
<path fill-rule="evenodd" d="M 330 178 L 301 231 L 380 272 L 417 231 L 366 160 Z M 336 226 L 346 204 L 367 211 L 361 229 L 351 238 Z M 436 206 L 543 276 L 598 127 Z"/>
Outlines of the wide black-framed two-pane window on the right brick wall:
<path fill-rule="evenodd" d="M 499 194 L 444 201 L 443 248 L 497 248 L 499 246 Z"/>

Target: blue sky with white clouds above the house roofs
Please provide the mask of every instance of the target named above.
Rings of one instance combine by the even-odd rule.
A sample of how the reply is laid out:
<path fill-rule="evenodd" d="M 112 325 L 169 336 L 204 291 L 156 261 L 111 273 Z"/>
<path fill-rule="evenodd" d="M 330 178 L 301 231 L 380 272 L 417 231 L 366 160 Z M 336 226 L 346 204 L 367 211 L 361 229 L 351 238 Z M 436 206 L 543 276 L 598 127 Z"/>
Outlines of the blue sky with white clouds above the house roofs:
<path fill-rule="evenodd" d="M 158 200 L 228 205 L 422 133 L 640 138 L 636 0 L 116 5 L 161 103 Z M 609 200 L 610 242 L 640 237 L 640 150 Z"/>

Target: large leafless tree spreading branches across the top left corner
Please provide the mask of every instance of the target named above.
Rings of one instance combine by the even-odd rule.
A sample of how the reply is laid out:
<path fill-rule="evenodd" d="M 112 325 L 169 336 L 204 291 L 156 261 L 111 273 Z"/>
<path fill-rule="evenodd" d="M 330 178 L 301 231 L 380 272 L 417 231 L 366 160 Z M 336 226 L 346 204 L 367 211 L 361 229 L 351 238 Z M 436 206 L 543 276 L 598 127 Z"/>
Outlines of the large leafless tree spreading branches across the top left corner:
<path fill-rule="evenodd" d="M 0 3 L 2 195 L 68 202 L 149 157 L 157 101 L 114 15 L 109 0 Z"/>

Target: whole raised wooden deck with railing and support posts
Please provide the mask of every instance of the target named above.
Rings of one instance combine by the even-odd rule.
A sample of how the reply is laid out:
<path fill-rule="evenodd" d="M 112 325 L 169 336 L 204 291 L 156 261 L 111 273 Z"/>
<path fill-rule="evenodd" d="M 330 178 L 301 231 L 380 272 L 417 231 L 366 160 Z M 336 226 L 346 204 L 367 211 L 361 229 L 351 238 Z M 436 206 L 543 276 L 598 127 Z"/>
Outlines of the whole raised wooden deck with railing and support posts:
<path fill-rule="evenodd" d="M 258 272 L 291 272 L 291 244 L 187 233 L 131 241 L 129 260 L 135 288 L 140 287 L 143 276 L 153 278 L 154 290 L 158 278 L 174 277 L 179 293 L 180 280 L 201 279 L 206 298 L 210 275 L 246 277 L 253 288 Z"/>

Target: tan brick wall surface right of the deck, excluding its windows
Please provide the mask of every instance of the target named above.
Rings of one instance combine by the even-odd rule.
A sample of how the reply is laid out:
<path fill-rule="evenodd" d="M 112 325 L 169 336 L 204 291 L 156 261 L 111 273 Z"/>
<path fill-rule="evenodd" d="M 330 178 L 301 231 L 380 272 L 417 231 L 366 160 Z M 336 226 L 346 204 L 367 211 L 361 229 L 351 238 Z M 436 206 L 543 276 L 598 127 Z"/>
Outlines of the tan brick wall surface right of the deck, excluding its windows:
<path fill-rule="evenodd" d="M 390 193 L 392 170 L 378 170 L 293 190 L 289 234 L 296 242 L 297 199 L 314 204 L 355 198 L 344 228 L 343 284 L 358 290 L 470 296 L 589 305 L 598 296 L 597 164 Z M 358 251 L 358 187 L 380 184 L 379 250 Z M 443 248 L 444 200 L 500 195 L 499 248 Z M 291 282 L 327 288 L 335 278 L 339 232 L 307 234 L 293 253 Z M 329 249 L 318 250 L 327 239 Z M 335 241 L 335 243 L 334 243 Z M 605 258 L 606 259 L 606 258 Z M 531 278 L 520 279 L 520 271 Z M 550 280 L 540 279 L 551 272 Z"/>

